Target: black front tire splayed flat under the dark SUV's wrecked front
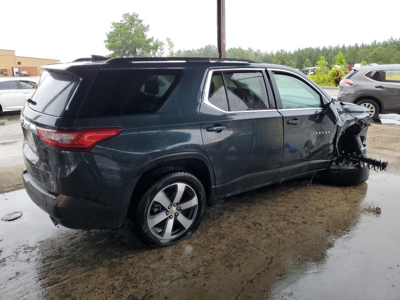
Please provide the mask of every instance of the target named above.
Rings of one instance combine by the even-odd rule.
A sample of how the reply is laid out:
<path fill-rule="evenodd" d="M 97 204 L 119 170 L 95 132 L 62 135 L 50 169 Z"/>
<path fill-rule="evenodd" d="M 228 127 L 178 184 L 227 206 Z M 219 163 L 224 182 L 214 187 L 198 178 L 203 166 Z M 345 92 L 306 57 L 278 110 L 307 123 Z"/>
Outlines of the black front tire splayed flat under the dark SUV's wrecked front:
<path fill-rule="evenodd" d="M 361 167 L 359 164 L 350 166 L 332 165 L 329 169 L 315 174 L 318 181 L 338 186 L 356 185 L 366 181 L 369 176 L 370 169 Z"/>

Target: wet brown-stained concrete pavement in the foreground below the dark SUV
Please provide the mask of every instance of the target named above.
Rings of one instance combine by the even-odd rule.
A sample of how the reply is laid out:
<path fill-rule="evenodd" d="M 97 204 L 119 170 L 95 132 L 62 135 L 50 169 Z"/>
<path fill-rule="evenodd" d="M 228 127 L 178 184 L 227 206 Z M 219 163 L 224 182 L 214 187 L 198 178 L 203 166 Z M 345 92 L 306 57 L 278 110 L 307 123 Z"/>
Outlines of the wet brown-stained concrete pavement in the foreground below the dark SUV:
<path fill-rule="evenodd" d="M 7 299 L 396 299 L 397 182 L 374 172 L 360 186 L 299 181 L 247 192 L 207 209 L 192 237 L 159 249 L 125 230 L 54 227 L 23 190 L 3 194 L 1 210 L 22 210 L 14 195 L 25 210 L 1 229 L 2 293 Z M 7 207 L 5 199 L 14 204 Z M 365 211 L 377 206 L 380 215 Z"/>

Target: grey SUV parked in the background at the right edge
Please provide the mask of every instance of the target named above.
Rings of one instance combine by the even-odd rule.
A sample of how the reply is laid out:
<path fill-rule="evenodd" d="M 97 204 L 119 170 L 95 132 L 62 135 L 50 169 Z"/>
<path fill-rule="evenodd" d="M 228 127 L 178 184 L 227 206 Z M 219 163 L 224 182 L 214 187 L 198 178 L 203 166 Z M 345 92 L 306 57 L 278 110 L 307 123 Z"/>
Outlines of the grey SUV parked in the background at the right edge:
<path fill-rule="evenodd" d="M 338 100 L 364 106 L 372 120 L 378 114 L 400 113 L 400 65 L 352 68 L 340 81 Z"/>

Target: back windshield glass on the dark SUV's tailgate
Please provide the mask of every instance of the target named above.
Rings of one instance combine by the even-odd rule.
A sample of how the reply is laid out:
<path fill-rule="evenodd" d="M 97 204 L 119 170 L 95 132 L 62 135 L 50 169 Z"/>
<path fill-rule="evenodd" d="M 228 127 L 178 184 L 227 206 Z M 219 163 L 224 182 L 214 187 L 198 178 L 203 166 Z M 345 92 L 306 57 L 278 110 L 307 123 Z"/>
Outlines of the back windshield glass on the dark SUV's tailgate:
<path fill-rule="evenodd" d="M 32 102 L 28 105 L 37 112 L 60 117 L 78 83 L 79 78 L 73 74 L 50 71 L 34 92 Z"/>

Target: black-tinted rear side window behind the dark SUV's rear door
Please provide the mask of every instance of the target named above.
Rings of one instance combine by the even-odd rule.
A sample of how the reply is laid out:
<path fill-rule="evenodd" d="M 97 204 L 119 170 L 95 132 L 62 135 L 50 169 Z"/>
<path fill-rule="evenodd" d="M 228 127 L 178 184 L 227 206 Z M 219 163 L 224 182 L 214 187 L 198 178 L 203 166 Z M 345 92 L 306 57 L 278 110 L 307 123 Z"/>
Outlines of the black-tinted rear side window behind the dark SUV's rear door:
<path fill-rule="evenodd" d="M 181 69 L 100 70 L 81 106 L 79 117 L 155 112 L 182 74 Z"/>

